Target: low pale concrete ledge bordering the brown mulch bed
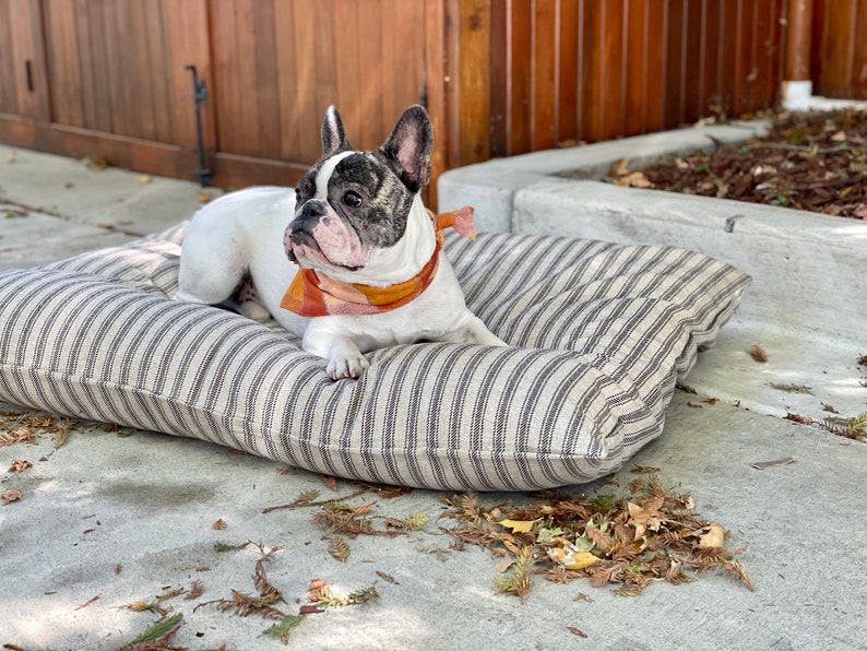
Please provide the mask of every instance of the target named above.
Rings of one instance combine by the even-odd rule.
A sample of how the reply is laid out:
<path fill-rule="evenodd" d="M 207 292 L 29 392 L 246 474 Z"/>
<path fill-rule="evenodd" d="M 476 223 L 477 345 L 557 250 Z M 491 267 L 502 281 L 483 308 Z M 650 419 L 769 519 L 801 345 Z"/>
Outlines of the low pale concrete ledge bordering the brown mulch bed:
<path fill-rule="evenodd" d="M 739 201 L 621 188 L 598 180 L 615 161 L 743 142 L 767 122 L 538 152 L 440 177 L 441 210 L 476 208 L 479 230 L 545 233 L 693 249 L 753 276 L 741 313 L 787 328 L 856 338 L 867 308 L 867 223 Z M 583 179 L 583 180 L 582 180 Z"/>

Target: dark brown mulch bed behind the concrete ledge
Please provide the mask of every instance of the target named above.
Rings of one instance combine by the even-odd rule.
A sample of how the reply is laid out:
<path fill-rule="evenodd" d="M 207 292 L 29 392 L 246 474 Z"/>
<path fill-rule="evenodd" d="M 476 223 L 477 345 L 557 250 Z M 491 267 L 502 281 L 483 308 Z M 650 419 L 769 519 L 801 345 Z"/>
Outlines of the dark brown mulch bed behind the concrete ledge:
<path fill-rule="evenodd" d="M 606 180 L 867 220 L 865 141 L 867 110 L 783 111 L 763 138 L 638 171 L 618 161 Z"/>

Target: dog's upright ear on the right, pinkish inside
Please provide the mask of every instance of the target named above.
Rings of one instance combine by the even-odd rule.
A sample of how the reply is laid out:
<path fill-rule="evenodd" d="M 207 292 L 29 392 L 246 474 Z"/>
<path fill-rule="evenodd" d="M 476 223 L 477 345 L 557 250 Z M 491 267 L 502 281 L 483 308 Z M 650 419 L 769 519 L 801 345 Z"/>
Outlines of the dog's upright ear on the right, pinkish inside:
<path fill-rule="evenodd" d="M 413 192 L 421 190 L 430 180 L 432 151 L 430 118 L 418 105 L 403 111 L 385 144 L 380 147 L 392 169 Z"/>

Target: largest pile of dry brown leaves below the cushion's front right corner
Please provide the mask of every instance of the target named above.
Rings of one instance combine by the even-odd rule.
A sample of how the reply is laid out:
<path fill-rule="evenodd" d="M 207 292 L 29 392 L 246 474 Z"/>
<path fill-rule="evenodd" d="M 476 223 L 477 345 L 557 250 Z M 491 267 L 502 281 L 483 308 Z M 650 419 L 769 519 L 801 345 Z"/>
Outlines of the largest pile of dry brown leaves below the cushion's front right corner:
<path fill-rule="evenodd" d="M 484 507 L 468 493 L 443 498 L 443 518 L 456 521 L 447 531 L 460 546 L 486 547 L 498 569 L 509 570 L 495 578 L 497 589 L 521 597 L 534 575 L 556 582 L 584 577 L 591 585 L 614 584 L 618 594 L 633 595 L 655 580 L 681 583 L 716 569 L 751 589 L 734 560 L 740 551 L 724 547 L 722 525 L 702 521 L 689 495 L 664 489 L 655 475 L 630 482 L 629 492 L 590 499 L 543 492 L 520 507 Z M 535 524 L 516 530 L 504 521 Z"/>

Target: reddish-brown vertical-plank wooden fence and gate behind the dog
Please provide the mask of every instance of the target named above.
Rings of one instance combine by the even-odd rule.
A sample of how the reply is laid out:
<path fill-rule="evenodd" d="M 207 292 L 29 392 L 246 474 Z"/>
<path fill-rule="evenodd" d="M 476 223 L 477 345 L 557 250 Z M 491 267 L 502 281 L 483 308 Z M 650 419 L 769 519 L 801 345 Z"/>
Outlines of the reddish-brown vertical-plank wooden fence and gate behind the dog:
<path fill-rule="evenodd" d="M 800 0 L 799 0 L 800 1 Z M 293 184 L 329 104 L 353 145 L 427 104 L 435 176 L 774 105 L 788 0 L 0 0 L 0 141 Z M 817 90 L 867 97 L 867 0 L 813 0 Z"/>

